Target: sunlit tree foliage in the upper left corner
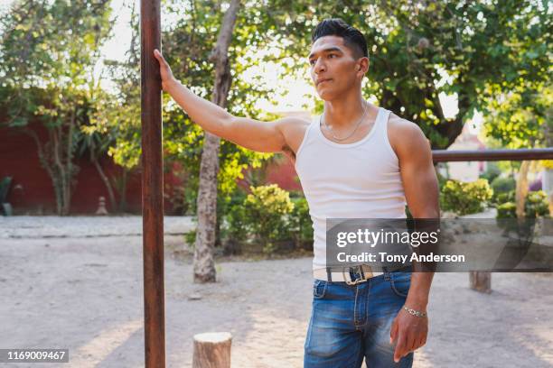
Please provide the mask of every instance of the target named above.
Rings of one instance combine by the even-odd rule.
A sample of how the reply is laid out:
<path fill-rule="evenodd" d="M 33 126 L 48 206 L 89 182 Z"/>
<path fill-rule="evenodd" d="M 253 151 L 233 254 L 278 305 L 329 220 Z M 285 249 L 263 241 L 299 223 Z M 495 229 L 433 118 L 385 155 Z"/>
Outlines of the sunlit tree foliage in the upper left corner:
<path fill-rule="evenodd" d="M 77 86 L 88 86 L 99 47 L 111 32 L 110 12 L 108 0 L 15 1 L 0 19 L 2 87 L 59 89 L 63 95 L 51 96 L 58 102 Z M 13 102 L 21 103 L 24 97 L 14 96 Z M 41 107 L 56 114 L 52 106 L 30 109 Z"/>

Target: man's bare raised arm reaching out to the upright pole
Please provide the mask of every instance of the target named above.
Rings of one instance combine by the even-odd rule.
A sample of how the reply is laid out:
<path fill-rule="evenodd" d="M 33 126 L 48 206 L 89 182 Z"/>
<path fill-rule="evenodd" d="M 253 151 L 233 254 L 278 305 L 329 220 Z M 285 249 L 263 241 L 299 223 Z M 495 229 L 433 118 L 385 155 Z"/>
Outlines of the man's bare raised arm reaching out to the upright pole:
<path fill-rule="evenodd" d="M 173 100 L 202 129 L 232 143 L 257 152 L 282 152 L 286 148 L 283 129 L 293 124 L 294 118 L 278 119 L 274 122 L 259 122 L 247 117 L 230 115 L 225 109 L 196 96 L 176 78 L 161 52 L 154 51 L 159 61 L 162 87 Z"/>

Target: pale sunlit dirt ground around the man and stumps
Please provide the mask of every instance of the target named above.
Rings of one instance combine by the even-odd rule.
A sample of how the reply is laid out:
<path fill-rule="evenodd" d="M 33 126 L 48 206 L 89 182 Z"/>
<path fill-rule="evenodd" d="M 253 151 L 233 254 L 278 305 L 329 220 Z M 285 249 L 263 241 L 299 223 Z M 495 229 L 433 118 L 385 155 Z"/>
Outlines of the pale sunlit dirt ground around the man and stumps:
<path fill-rule="evenodd" d="M 27 220 L 0 219 L 0 348 L 69 348 L 61 367 L 144 366 L 142 238 L 133 233 L 140 220 L 108 231 L 102 224 L 116 220 L 80 218 L 71 227 L 52 217 L 24 231 L 22 224 L 36 224 Z M 180 234 L 190 226 L 177 218 L 165 228 Z M 310 257 L 222 260 L 219 282 L 196 285 L 190 260 L 175 256 L 183 236 L 167 235 L 165 244 L 167 367 L 190 367 L 192 336 L 209 331 L 232 334 L 233 367 L 302 366 Z M 486 295 L 467 288 L 466 273 L 436 274 L 430 334 L 414 366 L 553 367 L 552 281 L 546 273 L 494 273 Z M 201 299 L 190 299 L 195 294 Z"/>

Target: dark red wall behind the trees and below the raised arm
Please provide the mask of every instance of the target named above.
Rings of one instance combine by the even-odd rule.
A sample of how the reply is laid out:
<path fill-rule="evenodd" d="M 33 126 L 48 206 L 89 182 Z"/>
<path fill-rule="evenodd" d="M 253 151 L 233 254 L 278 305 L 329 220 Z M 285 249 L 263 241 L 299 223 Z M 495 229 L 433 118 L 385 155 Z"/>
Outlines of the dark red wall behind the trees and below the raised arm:
<path fill-rule="evenodd" d="M 42 124 L 31 126 L 39 134 L 42 142 L 45 142 L 47 132 Z M 108 190 L 100 179 L 98 171 L 87 158 L 75 161 L 80 171 L 73 188 L 70 213 L 94 214 L 98 209 L 100 196 L 106 198 L 108 212 L 113 212 L 108 199 Z M 121 168 L 115 165 L 110 157 L 101 159 L 100 164 L 108 177 L 121 175 Z M 174 169 L 178 170 L 177 163 Z M 175 186 L 183 185 L 171 171 L 173 170 L 164 174 L 165 192 L 169 196 Z M 55 214 L 56 202 L 52 180 L 46 170 L 42 169 L 33 139 L 15 129 L 0 127 L 0 179 L 5 176 L 12 177 L 7 200 L 14 207 L 15 214 Z M 294 166 L 288 160 L 267 169 L 267 183 L 277 183 L 282 189 L 301 190 L 296 177 Z M 127 212 L 137 214 L 141 212 L 141 188 L 140 172 L 136 170 L 127 178 Z M 172 206 L 168 198 L 165 198 L 164 208 L 166 214 L 171 213 Z"/>

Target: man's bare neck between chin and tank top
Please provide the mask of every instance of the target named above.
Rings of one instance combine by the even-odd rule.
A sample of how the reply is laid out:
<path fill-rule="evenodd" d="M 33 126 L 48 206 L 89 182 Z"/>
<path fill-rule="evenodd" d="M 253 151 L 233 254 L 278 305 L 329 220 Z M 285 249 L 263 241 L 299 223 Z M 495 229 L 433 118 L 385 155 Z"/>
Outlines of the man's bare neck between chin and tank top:
<path fill-rule="evenodd" d="M 357 124 L 365 108 L 367 109 L 365 118 L 368 117 L 369 119 L 376 115 L 378 110 L 377 106 L 366 102 L 361 94 L 324 101 L 324 122 L 338 129 L 347 128 Z"/>

